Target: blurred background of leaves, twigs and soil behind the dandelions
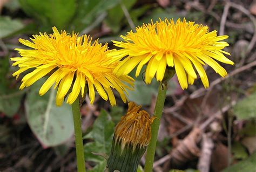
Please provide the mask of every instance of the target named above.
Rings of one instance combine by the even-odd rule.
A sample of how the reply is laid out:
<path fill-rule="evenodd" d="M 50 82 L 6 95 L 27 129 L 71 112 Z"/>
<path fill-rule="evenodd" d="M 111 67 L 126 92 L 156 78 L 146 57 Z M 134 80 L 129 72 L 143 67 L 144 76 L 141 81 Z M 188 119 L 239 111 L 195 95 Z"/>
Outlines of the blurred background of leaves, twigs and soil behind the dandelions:
<path fill-rule="evenodd" d="M 151 19 L 184 17 L 230 36 L 225 51 L 235 65 L 223 64 L 226 78 L 205 66 L 207 90 L 200 80 L 184 91 L 176 77 L 170 81 L 154 171 L 256 171 L 256 1 L 0 0 L 0 14 L 0 171 L 76 171 L 71 107 L 57 108 L 50 99 L 54 90 L 39 97 L 43 79 L 20 91 L 22 76 L 12 77 L 17 68 L 10 57 L 19 57 L 15 48 L 25 48 L 19 38 L 52 33 L 56 26 L 114 48 L 111 40 Z M 140 75 L 129 99 L 152 114 L 157 88 L 156 80 L 145 85 Z M 104 170 L 106 161 L 91 152 L 109 153 L 126 109 L 120 98 L 114 107 L 98 95 L 93 106 L 83 102 L 89 171 Z"/>

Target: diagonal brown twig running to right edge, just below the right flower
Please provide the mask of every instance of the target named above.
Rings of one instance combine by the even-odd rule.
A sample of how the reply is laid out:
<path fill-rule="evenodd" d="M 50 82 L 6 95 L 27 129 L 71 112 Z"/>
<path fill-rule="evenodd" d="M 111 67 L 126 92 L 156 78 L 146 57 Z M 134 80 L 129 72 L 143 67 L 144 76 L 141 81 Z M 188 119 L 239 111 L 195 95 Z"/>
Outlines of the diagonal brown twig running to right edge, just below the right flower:
<path fill-rule="evenodd" d="M 227 77 L 225 77 L 225 78 L 218 78 L 218 79 L 214 80 L 214 81 L 212 82 L 212 84 L 210 85 L 210 87 L 207 88 L 207 89 L 205 89 L 205 88 L 199 88 L 197 91 L 194 91 L 194 92 L 190 95 L 190 99 L 195 99 L 195 98 L 200 97 L 205 91 L 210 90 L 212 87 L 214 87 L 215 85 L 219 84 L 221 81 L 224 81 L 225 79 L 230 78 L 230 77 L 232 77 L 233 75 L 238 74 L 238 73 L 240 73 L 240 72 L 242 72 L 242 71 L 245 71 L 245 70 L 247 70 L 247 69 L 249 69 L 249 68 L 251 68 L 251 67 L 253 67 L 253 66 L 256 66 L 256 61 L 253 61 L 253 62 L 251 62 L 251 63 L 249 63 L 249 64 L 247 64 L 247 65 L 245 65 L 245 66 L 241 66 L 241 67 L 235 69 L 234 71 L 230 72 L 230 74 L 228 74 Z"/>

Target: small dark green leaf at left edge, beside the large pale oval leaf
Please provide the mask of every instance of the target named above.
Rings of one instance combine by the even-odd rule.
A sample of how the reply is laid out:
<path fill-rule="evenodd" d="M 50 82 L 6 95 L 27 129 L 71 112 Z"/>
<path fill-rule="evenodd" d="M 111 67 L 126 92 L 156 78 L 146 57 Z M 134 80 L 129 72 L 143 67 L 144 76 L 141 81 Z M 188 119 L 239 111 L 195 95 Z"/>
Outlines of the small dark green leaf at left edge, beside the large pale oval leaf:
<path fill-rule="evenodd" d="M 21 106 L 24 93 L 24 91 L 12 91 L 9 94 L 0 95 L 0 112 L 8 117 L 14 116 Z"/>

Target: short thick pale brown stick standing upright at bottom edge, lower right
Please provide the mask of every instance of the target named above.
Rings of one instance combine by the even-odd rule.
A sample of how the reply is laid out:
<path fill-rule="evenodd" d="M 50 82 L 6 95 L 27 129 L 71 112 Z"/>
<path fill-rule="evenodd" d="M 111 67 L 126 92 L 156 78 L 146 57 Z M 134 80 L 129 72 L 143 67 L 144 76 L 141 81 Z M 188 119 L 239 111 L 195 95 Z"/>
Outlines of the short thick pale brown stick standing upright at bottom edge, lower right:
<path fill-rule="evenodd" d="M 208 172 L 210 171 L 211 155 L 214 144 L 211 137 L 207 136 L 207 134 L 203 134 L 201 145 L 201 156 L 197 167 L 201 172 Z"/>

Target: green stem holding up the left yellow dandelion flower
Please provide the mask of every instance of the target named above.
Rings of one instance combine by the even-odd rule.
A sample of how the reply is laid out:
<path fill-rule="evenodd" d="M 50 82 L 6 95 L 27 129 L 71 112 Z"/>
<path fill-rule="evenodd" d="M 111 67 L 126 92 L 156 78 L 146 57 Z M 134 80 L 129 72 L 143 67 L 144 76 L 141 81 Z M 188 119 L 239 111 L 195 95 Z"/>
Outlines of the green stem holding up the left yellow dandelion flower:
<path fill-rule="evenodd" d="M 73 121 L 75 128 L 75 140 L 76 140 L 76 154 L 77 154 L 77 171 L 85 172 L 85 161 L 84 161 L 84 145 L 82 137 L 82 127 L 81 127 L 81 114 L 79 97 L 72 104 Z"/>

